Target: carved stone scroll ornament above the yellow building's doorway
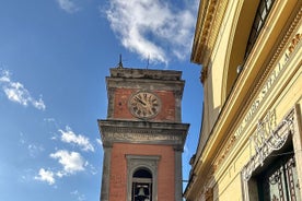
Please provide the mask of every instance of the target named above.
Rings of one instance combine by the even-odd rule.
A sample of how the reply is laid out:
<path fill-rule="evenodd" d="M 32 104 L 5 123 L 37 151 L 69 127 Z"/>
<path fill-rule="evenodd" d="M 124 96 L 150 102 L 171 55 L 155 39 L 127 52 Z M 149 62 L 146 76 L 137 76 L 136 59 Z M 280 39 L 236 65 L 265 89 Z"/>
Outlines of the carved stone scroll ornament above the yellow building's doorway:
<path fill-rule="evenodd" d="M 243 168 L 243 178 L 249 180 L 253 172 L 260 165 L 271 152 L 280 150 L 290 133 L 293 133 L 293 111 L 287 116 L 282 122 L 272 129 L 276 122 L 276 114 L 269 111 L 268 115 L 257 123 L 256 132 L 249 138 L 249 143 L 254 145 L 256 154 L 253 155 Z"/>

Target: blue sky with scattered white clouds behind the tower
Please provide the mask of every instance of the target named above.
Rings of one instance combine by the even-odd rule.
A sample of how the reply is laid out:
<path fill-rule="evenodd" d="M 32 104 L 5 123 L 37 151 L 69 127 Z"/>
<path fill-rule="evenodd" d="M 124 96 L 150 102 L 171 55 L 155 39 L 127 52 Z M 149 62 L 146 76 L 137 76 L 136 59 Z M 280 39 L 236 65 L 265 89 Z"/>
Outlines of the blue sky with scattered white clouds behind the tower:
<path fill-rule="evenodd" d="M 1 0 L 0 200 L 98 200 L 105 76 L 183 71 L 190 123 L 184 179 L 200 129 L 200 67 L 189 62 L 196 0 Z"/>

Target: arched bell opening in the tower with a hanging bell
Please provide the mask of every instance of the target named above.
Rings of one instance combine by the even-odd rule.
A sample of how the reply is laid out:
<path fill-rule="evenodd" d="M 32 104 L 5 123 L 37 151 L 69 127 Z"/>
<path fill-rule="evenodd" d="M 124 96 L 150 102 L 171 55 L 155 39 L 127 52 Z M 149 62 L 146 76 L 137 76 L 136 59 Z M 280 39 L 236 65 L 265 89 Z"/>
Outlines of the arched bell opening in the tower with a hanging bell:
<path fill-rule="evenodd" d="M 147 168 L 140 168 L 132 175 L 132 201 L 152 200 L 152 174 Z"/>

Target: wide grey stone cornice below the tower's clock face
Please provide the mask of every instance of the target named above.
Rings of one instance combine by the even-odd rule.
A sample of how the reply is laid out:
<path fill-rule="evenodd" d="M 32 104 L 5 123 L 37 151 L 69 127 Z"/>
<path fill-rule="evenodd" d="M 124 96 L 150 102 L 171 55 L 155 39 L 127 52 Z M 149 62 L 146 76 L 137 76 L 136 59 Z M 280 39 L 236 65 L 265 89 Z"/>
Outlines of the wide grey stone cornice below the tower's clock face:
<path fill-rule="evenodd" d="M 98 120 L 103 146 L 115 142 L 173 145 L 183 150 L 188 123 Z"/>

